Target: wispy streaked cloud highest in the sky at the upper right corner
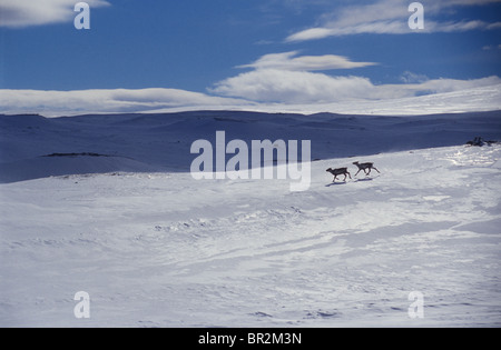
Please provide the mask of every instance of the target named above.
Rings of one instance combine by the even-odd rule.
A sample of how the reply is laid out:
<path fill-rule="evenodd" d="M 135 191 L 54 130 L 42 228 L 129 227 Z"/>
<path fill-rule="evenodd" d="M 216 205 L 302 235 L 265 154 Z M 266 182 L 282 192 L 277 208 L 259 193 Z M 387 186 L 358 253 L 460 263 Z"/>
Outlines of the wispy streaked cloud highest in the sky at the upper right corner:
<path fill-rule="evenodd" d="M 493 30 L 501 28 L 501 22 L 485 22 L 481 20 L 442 20 L 443 10 L 454 7 L 482 6 L 501 0 L 422 0 L 425 26 L 419 32 L 461 32 L 469 30 Z M 286 41 L 306 41 L 328 37 L 341 37 L 361 33 L 404 34 L 415 32 L 407 26 L 409 1 L 379 0 L 365 6 L 348 6 L 335 12 L 324 13 L 318 24 L 295 32 Z"/>

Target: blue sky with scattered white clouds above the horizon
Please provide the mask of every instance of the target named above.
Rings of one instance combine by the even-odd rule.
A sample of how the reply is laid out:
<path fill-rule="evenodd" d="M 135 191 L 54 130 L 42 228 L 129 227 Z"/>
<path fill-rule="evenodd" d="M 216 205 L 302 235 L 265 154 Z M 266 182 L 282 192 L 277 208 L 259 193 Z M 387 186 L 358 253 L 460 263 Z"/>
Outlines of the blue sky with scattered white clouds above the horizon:
<path fill-rule="evenodd" d="M 77 2 L 0 0 L 0 89 L 314 103 L 501 82 L 500 0 L 420 1 L 423 30 L 405 0 L 90 0 L 90 30 Z"/>

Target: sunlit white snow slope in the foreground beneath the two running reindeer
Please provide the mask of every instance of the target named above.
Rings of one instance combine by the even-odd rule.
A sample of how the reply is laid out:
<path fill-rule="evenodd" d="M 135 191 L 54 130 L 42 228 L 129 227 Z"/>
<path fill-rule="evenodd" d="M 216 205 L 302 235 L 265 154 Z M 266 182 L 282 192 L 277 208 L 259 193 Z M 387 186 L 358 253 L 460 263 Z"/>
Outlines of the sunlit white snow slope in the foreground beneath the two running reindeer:
<path fill-rule="evenodd" d="M 382 173 L 331 186 L 352 159 L 318 161 L 304 192 L 185 173 L 2 184 L 0 323 L 499 326 L 501 149 L 365 159 Z"/>

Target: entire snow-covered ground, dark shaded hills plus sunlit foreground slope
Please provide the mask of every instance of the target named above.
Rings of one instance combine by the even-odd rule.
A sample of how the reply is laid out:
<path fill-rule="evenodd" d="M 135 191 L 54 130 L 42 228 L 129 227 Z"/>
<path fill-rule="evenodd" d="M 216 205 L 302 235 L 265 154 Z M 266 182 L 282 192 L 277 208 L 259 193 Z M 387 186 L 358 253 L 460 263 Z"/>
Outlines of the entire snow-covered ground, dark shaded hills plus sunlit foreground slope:
<path fill-rule="evenodd" d="M 0 116 L 0 127 L 2 327 L 501 326 L 501 144 L 464 146 L 501 140 L 499 111 Z M 189 147 L 216 130 L 311 140 L 310 189 L 194 180 Z M 356 160 L 381 173 L 354 177 Z M 330 167 L 352 179 L 333 184 Z M 73 314 L 78 291 L 90 318 Z M 407 312 L 411 292 L 422 318 Z"/>

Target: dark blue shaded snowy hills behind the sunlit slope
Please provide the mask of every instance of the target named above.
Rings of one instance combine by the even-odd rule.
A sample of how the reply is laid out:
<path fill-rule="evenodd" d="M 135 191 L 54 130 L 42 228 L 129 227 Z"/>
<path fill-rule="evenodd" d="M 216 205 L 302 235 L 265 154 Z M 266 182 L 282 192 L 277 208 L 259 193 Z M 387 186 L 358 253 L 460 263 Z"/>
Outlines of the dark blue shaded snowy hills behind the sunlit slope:
<path fill-rule="evenodd" d="M 47 176 L 190 169 L 190 146 L 216 131 L 227 141 L 311 140 L 312 159 L 501 139 L 501 111 L 418 117 L 194 111 L 47 119 L 0 116 L 0 182 Z M 51 154 L 106 157 L 47 157 Z M 78 158 L 78 159 L 77 159 Z M 229 156 L 227 157 L 229 158 Z"/>

